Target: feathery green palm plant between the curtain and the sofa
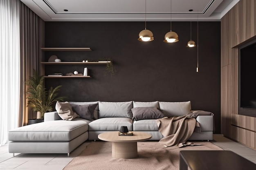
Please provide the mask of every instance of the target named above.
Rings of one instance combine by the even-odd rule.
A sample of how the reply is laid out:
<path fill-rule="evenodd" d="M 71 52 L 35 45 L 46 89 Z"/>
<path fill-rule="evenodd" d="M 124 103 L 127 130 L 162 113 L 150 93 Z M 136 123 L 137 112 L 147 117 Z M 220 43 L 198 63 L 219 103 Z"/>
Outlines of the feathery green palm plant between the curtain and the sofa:
<path fill-rule="evenodd" d="M 52 104 L 57 101 L 63 102 L 65 97 L 58 97 L 61 86 L 45 88 L 45 77 L 38 71 L 33 70 L 32 76 L 25 82 L 27 85 L 27 107 L 36 111 L 36 119 L 43 119 L 45 112 L 52 111 Z"/>

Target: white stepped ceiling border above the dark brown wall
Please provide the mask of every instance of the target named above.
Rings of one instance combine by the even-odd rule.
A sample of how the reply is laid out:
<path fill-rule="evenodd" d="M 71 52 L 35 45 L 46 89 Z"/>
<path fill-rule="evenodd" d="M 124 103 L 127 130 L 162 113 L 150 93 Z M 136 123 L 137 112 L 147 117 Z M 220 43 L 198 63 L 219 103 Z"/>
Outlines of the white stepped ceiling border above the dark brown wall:
<path fill-rule="evenodd" d="M 239 2 L 239 0 L 232 0 L 224 10 L 214 13 L 214 10 L 219 6 L 216 0 L 211 0 L 202 11 L 193 11 L 191 13 L 59 13 L 57 9 L 49 3 L 48 0 L 20 0 L 26 4 L 32 11 L 34 11 L 44 21 L 88 21 L 88 22 L 101 22 L 101 21 L 117 21 L 117 22 L 130 22 L 130 21 L 220 21 L 221 18 Z M 211 8 L 210 8 L 211 7 Z M 68 16 L 71 14 L 71 16 Z"/>

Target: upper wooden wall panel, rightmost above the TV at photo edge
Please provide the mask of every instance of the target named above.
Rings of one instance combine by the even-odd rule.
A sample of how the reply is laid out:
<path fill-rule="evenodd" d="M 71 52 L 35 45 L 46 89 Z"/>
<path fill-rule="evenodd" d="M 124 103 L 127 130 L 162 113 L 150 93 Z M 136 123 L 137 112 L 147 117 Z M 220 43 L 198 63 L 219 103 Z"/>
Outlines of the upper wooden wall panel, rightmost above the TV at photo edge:
<path fill-rule="evenodd" d="M 255 35 L 255 0 L 247 0 L 247 39 Z"/>

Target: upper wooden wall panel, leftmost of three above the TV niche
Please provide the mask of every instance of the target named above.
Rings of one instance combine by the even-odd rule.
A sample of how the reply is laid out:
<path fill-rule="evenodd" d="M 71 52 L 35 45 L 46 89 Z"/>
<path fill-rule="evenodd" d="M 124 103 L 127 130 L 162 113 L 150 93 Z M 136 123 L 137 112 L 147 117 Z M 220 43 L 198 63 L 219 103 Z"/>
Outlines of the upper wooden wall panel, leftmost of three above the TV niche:
<path fill-rule="evenodd" d="M 231 10 L 230 10 L 230 20 L 229 20 L 229 29 L 230 29 L 230 45 L 231 47 L 234 47 L 240 43 L 240 37 L 239 37 L 239 22 L 240 22 L 240 6 L 239 4 L 236 4 Z"/>

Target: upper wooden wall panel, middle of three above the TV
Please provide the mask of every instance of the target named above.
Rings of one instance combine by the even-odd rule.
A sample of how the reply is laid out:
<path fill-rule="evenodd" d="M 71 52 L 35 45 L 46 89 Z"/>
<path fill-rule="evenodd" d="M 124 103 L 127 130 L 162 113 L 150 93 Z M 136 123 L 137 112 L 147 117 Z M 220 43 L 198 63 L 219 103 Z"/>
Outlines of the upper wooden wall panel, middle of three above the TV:
<path fill-rule="evenodd" d="M 247 0 L 240 0 L 238 3 L 240 3 L 240 43 L 247 40 Z"/>

